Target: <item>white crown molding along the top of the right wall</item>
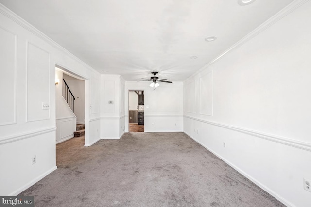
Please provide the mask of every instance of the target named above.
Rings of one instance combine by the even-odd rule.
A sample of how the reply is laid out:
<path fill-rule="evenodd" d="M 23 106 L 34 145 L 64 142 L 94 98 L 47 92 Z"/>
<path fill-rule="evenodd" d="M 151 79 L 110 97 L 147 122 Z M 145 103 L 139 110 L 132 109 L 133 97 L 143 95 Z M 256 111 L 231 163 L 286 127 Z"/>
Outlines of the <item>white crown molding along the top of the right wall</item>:
<path fill-rule="evenodd" d="M 203 70 L 205 70 L 209 65 L 213 64 L 214 62 L 216 62 L 218 59 L 220 59 L 221 57 L 223 57 L 225 54 L 231 52 L 232 50 L 241 47 L 243 44 L 245 44 L 246 42 L 248 42 L 249 40 L 251 40 L 252 38 L 254 38 L 255 36 L 257 36 L 258 34 L 260 34 L 261 32 L 265 31 L 266 29 L 268 29 L 269 27 L 271 27 L 272 25 L 274 25 L 276 22 L 278 22 L 279 20 L 281 20 L 282 18 L 284 18 L 285 16 L 289 15 L 290 13 L 292 13 L 294 10 L 296 10 L 297 8 L 299 8 L 300 6 L 302 6 L 304 3 L 308 2 L 309 0 L 294 0 L 292 3 L 290 3 L 289 5 L 287 5 L 285 8 L 283 8 L 281 11 L 279 11 L 278 13 L 276 13 L 276 15 L 272 16 L 271 18 L 269 18 L 267 21 L 263 22 L 261 25 L 259 25 L 255 30 L 253 30 L 252 32 L 249 32 L 246 36 L 244 36 L 241 40 L 239 40 L 238 42 L 236 42 L 234 45 L 232 45 L 231 47 L 227 48 L 224 52 L 222 52 L 220 55 L 218 55 L 216 58 L 214 58 L 213 60 L 211 60 L 209 63 L 207 63 L 206 65 L 204 65 L 201 69 L 199 69 L 198 71 L 196 71 L 194 74 L 192 74 L 187 80 L 189 80 L 191 77 L 196 76 L 197 74 L 201 73 Z M 185 80 L 185 81 L 187 81 Z"/>

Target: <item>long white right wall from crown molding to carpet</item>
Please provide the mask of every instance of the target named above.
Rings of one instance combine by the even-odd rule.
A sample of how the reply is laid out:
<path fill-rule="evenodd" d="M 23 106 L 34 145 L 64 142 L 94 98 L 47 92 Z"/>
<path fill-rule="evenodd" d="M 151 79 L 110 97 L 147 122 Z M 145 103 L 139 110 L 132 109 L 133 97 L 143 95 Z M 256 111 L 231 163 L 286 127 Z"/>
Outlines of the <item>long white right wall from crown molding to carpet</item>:
<path fill-rule="evenodd" d="M 310 11 L 307 1 L 269 21 L 184 82 L 184 131 L 297 207 L 311 203 L 303 189 L 303 178 L 311 179 Z"/>

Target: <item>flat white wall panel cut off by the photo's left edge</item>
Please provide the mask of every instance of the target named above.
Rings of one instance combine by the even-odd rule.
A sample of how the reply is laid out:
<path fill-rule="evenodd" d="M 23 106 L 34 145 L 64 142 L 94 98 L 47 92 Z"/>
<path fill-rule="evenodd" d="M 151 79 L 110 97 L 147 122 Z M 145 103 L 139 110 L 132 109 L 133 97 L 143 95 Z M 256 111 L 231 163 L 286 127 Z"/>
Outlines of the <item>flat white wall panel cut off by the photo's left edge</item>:
<path fill-rule="evenodd" d="M 16 123 L 17 35 L 0 27 L 0 125 Z"/>

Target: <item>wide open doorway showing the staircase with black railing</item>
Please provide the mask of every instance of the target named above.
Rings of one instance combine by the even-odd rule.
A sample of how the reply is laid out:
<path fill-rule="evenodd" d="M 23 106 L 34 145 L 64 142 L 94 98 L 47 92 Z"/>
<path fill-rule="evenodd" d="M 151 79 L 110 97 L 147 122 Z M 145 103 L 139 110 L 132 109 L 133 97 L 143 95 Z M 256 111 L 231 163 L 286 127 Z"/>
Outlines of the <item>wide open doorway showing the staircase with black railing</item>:
<path fill-rule="evenodd" d="M 56 65 L 56 144 L 73 137 L 85 140 L 85 80 Z"/>

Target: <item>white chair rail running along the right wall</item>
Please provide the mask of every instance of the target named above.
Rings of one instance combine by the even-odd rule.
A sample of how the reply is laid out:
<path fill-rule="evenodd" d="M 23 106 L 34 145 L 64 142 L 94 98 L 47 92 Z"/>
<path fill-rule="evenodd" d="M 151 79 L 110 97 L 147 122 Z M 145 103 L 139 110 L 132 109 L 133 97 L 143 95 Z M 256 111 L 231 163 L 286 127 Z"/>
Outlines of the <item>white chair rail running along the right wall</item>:
<path fill-rule="evenodd" d="M 186 116 L 186 115 L 184 115 L 184 117 L 189 118 L 189 119 L 193 119 L 193 120 L 196 120 L 196 121 L 199 121 L 199 122 L 207 123 L 207 124 L 210 124 L 210 125 L 214 125 L 214 126 L 223 127 L 223 128 L 227 128 L 227 129 L 230 129 L 230 130 L 242 132 L 244 134 L 249 134 L 249 135 L 252 135 L 252 136 L 255 136 L 255 137 L 259 137 L 259 138 L 262 138 L 262 139 L 265 139 L 265 140 L 269 140 L 269 141 L 272 141 L 272 142 L 286 144 L 288 146 L 292 146 L 292 147 L 296 147 L 296 148 L 299 148 L 299 149 L 311 151 L 311 143 L 305 143 L 305 142 L 293 140 L 293 139 L 290 139 L 290 138 L 281 137 L 281 136 L 277 136 L 277 135 L 273 135 L 273 134 L 267 134 L 267 133 L 264 133 L 264 132 L 254 131 L 254 130 L 246 129 L 246 128 L 242 128 L 242 127 L 236 127 L 236 126 L 226 125 L 226 124 L 222 124 L 222 123 L 218 123 L 218 122 L 202 120 L 202 119 L 198 119 L 198 118 L 194 118 L 194 117 L 190 117 L 190 116 Z"/>

